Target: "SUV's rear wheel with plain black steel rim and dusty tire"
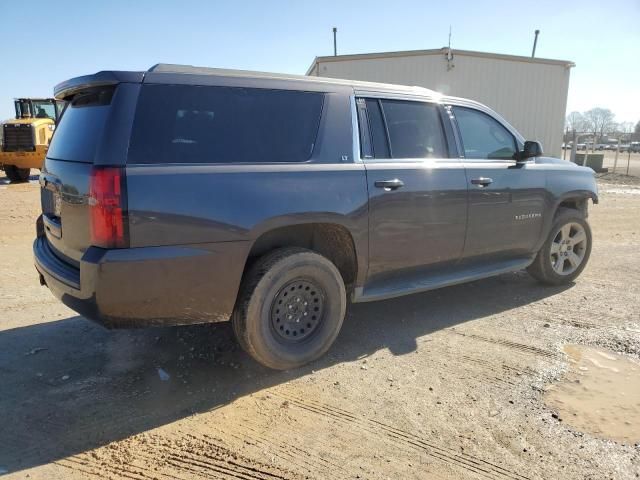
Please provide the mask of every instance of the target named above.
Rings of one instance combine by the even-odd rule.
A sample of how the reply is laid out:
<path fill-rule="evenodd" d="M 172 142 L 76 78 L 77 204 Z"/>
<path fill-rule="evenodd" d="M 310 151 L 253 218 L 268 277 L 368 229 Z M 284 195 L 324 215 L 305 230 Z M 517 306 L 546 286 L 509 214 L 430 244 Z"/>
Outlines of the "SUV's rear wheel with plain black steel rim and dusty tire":
<path fill-rule="evenodd" d="M 329 349 L 346 307 L 344 282 L 332 262 L 304 248 L 281 248 L 245 274 L 231 323 L 238 343 L 256 361 L 288 370 Z"/>

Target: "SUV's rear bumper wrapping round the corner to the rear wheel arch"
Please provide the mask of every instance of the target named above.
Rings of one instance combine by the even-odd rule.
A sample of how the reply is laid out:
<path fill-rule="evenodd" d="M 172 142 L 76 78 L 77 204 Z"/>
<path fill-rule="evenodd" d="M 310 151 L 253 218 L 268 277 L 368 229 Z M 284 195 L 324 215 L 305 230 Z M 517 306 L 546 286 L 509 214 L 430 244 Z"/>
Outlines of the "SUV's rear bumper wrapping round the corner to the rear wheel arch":
<path fill-rule="evenodd" d="M 90 247 L 75 268 L 39 236 L 33 253 L 41 282 L 62 303 L 108 328 L 119 328 L 228 320 L 246 247 L 246 242 Z"/>

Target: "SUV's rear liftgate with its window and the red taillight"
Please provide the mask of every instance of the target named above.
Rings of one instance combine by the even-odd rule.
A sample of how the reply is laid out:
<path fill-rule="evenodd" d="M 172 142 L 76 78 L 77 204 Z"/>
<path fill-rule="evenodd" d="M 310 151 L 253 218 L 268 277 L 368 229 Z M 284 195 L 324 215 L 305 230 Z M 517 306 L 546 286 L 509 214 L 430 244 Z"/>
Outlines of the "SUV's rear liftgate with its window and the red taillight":
<path fill-rule="evenodd" d="M 40 175 L 47 244 L 58 258 L 76 267 L 92 245 L 125 246 L 122 169 L 125 159 L 116 155 L 110 159 L 111 165 L 99 160 L 105 144 L 118 143 L 118 139 L 109 138 L 113 130 L 109 124 L 114 121 L 113 104 L 119 88 L 111 85 L 74 92 L 56 128 Z M 105 190 L 107 196 L 110 192 L 117 198 L 105 198 Z M 105 203 L 110 203 L 106 211 Z M 110 227 L 105 222 L 118 220 L 106 217 L 114 212 L 120 215 L 120 225 L 113 226 L 116 234 L 120 230 L 119 242 L 109 241 L 104 235 Z M 108 236 L 113 232 L 106 233 Z"/>

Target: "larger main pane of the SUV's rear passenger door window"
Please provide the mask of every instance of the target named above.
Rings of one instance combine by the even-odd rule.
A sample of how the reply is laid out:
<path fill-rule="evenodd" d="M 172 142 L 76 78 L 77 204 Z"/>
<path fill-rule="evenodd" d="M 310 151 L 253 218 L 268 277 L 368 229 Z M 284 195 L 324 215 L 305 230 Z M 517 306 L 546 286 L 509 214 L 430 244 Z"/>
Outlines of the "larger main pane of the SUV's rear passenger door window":
<path fill-rule="evenodd" d="M 447 156 L 440 114 L 435 105 L 382 100 L 393 158 Z"/>

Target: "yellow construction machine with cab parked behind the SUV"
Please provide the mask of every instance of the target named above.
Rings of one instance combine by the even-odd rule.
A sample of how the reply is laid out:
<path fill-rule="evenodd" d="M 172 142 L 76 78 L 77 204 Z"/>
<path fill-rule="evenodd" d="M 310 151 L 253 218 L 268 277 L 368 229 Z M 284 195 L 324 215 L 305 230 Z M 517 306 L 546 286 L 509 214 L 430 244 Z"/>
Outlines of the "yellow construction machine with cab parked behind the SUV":
<path fill-rule="evenodd" d="M 16 116 L 2 124 L 0 166 L 13 182 L 26 182 L 41 168 L 64 102 L 55 98 L 17 98 Z"/>

